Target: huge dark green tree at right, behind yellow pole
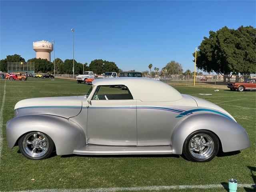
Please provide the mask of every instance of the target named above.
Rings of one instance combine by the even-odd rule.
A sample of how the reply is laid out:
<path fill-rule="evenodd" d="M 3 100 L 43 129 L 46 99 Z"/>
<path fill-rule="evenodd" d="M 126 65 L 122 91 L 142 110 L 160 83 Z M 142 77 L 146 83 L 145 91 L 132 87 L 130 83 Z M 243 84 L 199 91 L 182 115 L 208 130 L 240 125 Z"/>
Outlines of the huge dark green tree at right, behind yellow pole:
<path fill-rule="evenodd" d="M 252 26 L 240 26 L 237 30 L 225 26 L 216 32 L 210 31 L 209 37 L 204 37 L 198 46 L 197 67 L 228 76 L 256 73 L 255 34 Z"/>

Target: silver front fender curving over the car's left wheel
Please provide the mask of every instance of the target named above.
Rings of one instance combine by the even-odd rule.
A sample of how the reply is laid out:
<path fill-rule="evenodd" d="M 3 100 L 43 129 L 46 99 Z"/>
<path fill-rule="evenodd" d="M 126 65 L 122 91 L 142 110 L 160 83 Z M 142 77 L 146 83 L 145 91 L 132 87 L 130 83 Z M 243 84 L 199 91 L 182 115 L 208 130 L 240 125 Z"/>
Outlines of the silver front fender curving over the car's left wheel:
<path fill-rule="evenodd" d="M 6 138 L 9 148 L 25 133 L 38 131 L 50 136 L 58 155 L 73 154 L 74 149 L 85 146 L 83 130 L 66 118 L 51 115 L 24 115 L 6 123 Z"/>

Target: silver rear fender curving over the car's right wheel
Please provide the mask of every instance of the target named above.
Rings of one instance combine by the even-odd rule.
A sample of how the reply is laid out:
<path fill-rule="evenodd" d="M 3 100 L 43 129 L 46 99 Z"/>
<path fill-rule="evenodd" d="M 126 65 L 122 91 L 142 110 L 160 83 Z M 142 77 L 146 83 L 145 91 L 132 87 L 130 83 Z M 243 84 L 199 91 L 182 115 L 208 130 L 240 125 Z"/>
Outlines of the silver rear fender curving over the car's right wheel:
<path fill-rule="evenodd" d="M 234 120 L 218 114 L 196 114 L 182 120 L 175 128 L 171 145 L 173 154 L 182 154 L 186 138 L 197 130 L 209 130 L 218 136 L 223 152 L 248 148 L 250 140 L 246 130 Z"/>

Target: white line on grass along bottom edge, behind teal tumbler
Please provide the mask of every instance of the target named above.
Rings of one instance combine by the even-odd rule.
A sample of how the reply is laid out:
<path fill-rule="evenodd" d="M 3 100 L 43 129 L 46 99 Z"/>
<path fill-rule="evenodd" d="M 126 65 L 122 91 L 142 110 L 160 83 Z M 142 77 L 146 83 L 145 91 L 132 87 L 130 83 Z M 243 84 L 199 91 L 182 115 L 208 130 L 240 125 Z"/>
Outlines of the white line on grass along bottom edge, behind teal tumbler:
<path fill-rule="evenodd" d="M 255 184 L 238 184 L 238 188 L 252 188 Z M 209 184 L 209 185 L 174 185 L 174 186 L 144 186 L 144 187 L 114 187 L 114 188 L 92 188 L 92 189 L 41 189 L 41 190 L 26 190 L 12 192 L 117 192 L 117 191 L 162 191 L 176 189 L 216 189 L 226 188 L 228 184 Z"/>

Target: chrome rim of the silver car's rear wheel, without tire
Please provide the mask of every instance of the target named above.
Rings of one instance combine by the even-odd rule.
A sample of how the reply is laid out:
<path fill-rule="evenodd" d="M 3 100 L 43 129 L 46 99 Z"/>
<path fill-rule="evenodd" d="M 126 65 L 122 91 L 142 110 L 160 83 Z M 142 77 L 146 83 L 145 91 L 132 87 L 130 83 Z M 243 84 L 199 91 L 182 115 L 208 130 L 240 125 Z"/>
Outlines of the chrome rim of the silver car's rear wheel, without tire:
<path fill-rule="evenodd" d="M 188 148 L 193 157 L 206 159 L 214 151 L 214 142 L 207 134 L 196 134 L 188 143 Z"/>

